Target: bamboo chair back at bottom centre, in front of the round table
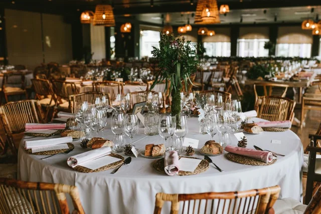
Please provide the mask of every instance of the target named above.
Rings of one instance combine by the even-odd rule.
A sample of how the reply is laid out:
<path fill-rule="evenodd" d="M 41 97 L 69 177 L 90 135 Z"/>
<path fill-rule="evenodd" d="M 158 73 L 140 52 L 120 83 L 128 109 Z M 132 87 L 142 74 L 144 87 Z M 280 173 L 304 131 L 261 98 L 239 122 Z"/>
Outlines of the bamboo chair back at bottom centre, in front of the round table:
<path fill-rule="evenodd" d="M 181 201 L 184 201 L 182 213 L 184 213 L 185 203 L 188 203 L 188 213 L 190 213 L 190 204 L 189 204 L 190 200 L 194 200 L 194 206 L 193 206 L 192 213 L 195 213 L 196 210 L 198 210 L 198 213 L 200 213 L 200 205 L 199 205 L 198 209 L 196 209 L 197 207 L 195 207 L 195 204 L 196 204 L 196 200 L 199 200 L 201 203 L 202 199 L 206 199 L 204 213 L 206 213 L 207 207 L 210 206 L 210 204 L 208 204 L 208 199 L 212 199 L 212 206 L 211 206 L 210 213 L 214 213 L 213 212 L 214 199 L 219 199 L 218 205 L 215 208 L 217 208 L 219 206 L 221 200 L 223 200 L 221 202 L 221 204 L 224 202 L 224 205 L 223 205 L 224 208 L 223 208 L 222 213 L 224 213 L 225 206 L 227 205 L 227 204 L 225 204 L 226 199 L 230 200 L 227 213 L 239 213 L 240 206 L 238 206 L 238 208 L 237 208 L 236 207 L 237 202 L 235 201 L 233 208 L 230 207 L 231 200 L 233 200 L 233 199 L 237 200 L 238 198 L 240 198 L 240 203 L 241 203 L 243 201 L 243 199 L 245 198 L 245 203 L 246 203 L 248 197 L 250 197 L 249 204 L 251 202 L 253 202 L 252 203 L 252 211 L 253 211 L 253 207 L 255 205 L 255 201 L 257 201 L 255 213 L 270 213 L 271 211 L 273 211 L 272 207 L 279 196 L 280 190 L 281 190 L 280 186 L 276 185 L 276 186 L 262 188 L 262 189 L 252 189 L 252 190 L 247 190 L 247 191 L 233 191 L 233 192 L 205 192 L 205 193 L 196 193 L 196 194 L 166 194 L 166 193 L 161 192 L 161 193 L 156 194 L 154 214 L 161 214 L 162 207 L 163 207 L 165 201 L 172 202 L 171 214 L 178 214 L 179 213 Z M 257 200 L 255 200 L 256 196 L 258 196 Z M 252 201 L 252 197 L 254 197 L 253 201 Z M 250 205 L 248 206 L 248 209 L 249 208 L 250 208 Z M 237 209 L 237 212 L 236 212 L 236 209 Z M 232 210 L 233 210 L 233 212 L 230 212 Z M 249 211 L 251 211 L 251 210 L 247 210 L 247 212 L 246 212 L 246 210 L 244 210 L 244 207 L 243 207 L 243 210 L 240 213 L 249 213 Z M 218 212 L 216 212 L 216 213 L 218 213 Z"/>

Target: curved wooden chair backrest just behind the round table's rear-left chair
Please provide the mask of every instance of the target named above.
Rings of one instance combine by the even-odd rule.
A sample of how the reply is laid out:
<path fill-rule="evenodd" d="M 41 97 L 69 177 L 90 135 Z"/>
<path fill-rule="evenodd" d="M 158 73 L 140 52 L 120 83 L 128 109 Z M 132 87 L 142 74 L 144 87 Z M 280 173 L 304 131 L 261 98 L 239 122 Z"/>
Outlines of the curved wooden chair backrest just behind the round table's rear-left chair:
<path fill-rule="evenodd" d="M 93 91 L 108 94 L 110 98 L 114 98 L 117 94 L 123 94 L 123 83 L 116 81 L 95 82 L 92 84 Z"/>

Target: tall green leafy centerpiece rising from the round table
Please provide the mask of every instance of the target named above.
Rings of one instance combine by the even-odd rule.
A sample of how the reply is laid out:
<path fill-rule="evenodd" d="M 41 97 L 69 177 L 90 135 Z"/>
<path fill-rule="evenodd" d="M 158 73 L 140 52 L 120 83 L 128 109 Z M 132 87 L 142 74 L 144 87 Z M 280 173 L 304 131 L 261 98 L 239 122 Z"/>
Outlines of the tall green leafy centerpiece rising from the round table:
<path fill-rule="evenodd" d="M 156 84 L 166 81 L 165 91 L 169 88 L 172 95 L 172 115 L 177 115 L 181 112 L 182 84 L 188 88 L 188 81 L 192 83 L 191 74 L 195 73 L 200 66 L 197 56 L 199 45 L 185 41 L 184 37 L 161 34 L 159 48 L 152 48 L 151 54 L 156 60 L 157 69 L 154 72 L 155 81 L 150 90 Z"/>

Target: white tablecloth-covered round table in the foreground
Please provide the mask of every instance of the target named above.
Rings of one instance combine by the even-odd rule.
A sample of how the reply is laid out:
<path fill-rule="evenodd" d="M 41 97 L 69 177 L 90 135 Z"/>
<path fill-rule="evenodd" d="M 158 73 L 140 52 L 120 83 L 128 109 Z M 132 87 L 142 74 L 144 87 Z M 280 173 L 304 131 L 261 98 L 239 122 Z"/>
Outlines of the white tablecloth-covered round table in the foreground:
<path fill-rule="evenodd" d="M 262 119 L 253 118 L 253 121 Z M 204 158 L 199 149 L 210 139 L 207 134 L 199 133 L 198 120 L 189 118 L 189 133 L 186 137 L 199 139 L 198 149 L 194 157 Z M 112 139 L 110 128 L 105 130 L 105 137 Z M 122 166 L 117 173 L 110 174 L 112 169 L 102 172 L 81 173 L 69 168 L 68 156 L 87 151 L 74 141 L 75 149 L 68 155 L 60 154 L 52 158 L 40 160 L 43 155 L 29 155 L 19 148 L 18 177 L 33 182 L 50 182 L 76 185 L 86 213 L 152 213 L 157 192 L 166 193 L 199 193 L 208 191 L 240 191 L 280 185 L 280 198 L 292 197 L 300 200 L 302 194 L 303 148 L 300 139 L 292 131 L 263 132 L 261 134 L 245 134 L 247 147 L 257 145 L 263 149 L 284 154 L 267 166 L 243 165 L 232 162 L 223 155 L 211 157 L 224 172 L 219 172 L 212 164 L 207 171 L 197 175 L 168 176 L 156 171 L 151 166 L 154 159 L 138 155 L 132 157 L 129 165 Z M 33 138 L 35 139 L 35 138 Z M 36 138 L 41 139 L 41 138 Z M 218 139 L 218 134 L 214 139 Z M 271 144 L 271 140 L 281 140 L 280 144 Z M 134 145 L 138 153 L 149 143 L 159 144 L 164 140 L 159 135 L 146 136 L 143 128 L 134 136 Z M 232 136 L 232 145 L 237 139 Z M 125 158 L 124 153 L 120 153 Z M 69 201 L 70 204 L 71 201 Z M 169 210 L 169 203 L 164 209 Z M 169 212 L 167 212 L 169 213 Z"/>

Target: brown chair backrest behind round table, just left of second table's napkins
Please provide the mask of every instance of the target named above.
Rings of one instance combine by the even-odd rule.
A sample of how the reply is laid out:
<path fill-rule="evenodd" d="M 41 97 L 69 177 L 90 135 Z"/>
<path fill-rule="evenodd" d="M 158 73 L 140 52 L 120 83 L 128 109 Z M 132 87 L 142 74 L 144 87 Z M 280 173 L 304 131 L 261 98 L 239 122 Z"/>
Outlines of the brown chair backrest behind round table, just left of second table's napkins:
<path fill-rule="evenodd" d="M 59 98 L 68 100 L 70 95 L 78 94 L 76 84 L 61 80 L 53 80 L 54 92 Z"/>

